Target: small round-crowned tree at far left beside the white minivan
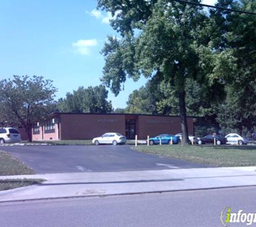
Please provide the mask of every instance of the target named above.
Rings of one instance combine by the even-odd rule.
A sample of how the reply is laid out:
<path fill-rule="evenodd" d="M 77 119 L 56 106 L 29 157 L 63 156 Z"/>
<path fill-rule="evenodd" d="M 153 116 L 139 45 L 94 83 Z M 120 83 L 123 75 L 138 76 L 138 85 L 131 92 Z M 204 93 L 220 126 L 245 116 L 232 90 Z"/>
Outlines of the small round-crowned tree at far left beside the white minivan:
<path fill-rule="evenodd" d="M 13 76 L 0 81 L 1 122 L 20 124 L 32 140 L 32 124 L 44 118 L 54 104 L 57 89 L 43 76 Z"/>

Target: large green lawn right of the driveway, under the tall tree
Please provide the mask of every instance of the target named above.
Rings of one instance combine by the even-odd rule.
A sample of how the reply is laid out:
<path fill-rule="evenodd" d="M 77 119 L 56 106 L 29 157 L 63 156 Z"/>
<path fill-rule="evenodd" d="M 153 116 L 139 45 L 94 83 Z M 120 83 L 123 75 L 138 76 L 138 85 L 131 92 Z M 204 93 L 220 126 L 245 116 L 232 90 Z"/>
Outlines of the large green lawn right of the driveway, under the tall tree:
<path fill-rule="evenodd" d="M 135 150 L 218 167 L 256 166 L 256 146 L 140 145 Z"/>

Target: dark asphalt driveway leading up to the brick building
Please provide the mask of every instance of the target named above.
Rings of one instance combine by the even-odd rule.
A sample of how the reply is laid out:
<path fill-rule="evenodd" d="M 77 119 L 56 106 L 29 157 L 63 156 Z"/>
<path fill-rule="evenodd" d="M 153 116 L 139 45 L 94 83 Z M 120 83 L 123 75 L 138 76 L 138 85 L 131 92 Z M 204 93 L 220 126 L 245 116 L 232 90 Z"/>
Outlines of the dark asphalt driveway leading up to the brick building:
<path fill-rule="evenodd" d="M 163 158 L 124 146 L 2 146 L 36 173 L 140 171 L 203 168 L 202 164 Z"/>

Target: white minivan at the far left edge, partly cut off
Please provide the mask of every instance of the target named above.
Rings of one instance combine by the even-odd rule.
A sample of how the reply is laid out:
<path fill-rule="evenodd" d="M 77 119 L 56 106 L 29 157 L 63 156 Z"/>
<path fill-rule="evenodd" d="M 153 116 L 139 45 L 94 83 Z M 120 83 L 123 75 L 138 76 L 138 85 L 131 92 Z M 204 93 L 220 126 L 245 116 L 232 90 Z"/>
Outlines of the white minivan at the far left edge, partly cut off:
<path fill-rule="evenodd" d="M 4 143 L 19 143 L 20 133 L 14 127 L 2 127 L 0 128 L 0 144 Z"/>

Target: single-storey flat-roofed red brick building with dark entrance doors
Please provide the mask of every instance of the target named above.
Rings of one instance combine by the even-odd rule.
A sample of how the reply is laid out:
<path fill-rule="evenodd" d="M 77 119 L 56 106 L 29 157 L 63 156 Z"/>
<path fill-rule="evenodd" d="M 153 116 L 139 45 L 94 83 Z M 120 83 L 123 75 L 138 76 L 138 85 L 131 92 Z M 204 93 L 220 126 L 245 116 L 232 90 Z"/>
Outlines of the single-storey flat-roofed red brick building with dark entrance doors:
<path fill-rule="evenodd" d="M 188 130 L 193 134 L 192 117 L 188 117 Z M 32 140 L 92 139 L 106 132 L 146 139 L 148 135 L 181 132 L 181 120 L 177 116 L 127 113 L 52 113 L 45 122 L 33 124 Z"/>

